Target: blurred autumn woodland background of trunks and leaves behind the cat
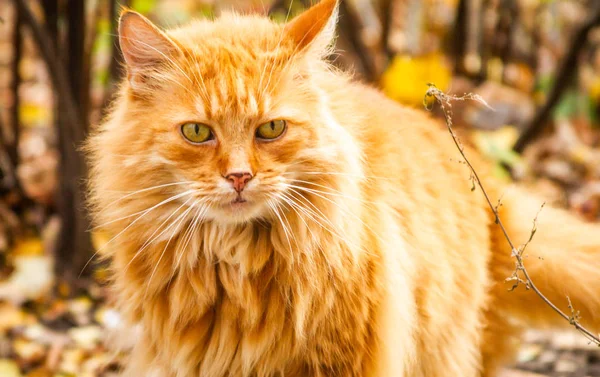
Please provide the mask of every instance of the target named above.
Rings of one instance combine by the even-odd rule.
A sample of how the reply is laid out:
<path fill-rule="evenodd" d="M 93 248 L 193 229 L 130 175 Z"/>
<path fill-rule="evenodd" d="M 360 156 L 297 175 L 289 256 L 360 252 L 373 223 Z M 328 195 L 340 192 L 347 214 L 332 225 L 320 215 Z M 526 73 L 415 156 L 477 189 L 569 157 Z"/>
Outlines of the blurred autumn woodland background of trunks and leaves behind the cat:
<path fill-rule="evenodd" d="M 283 22 L 310 3 L 0 1 L 0 376 L 118 370 L 101 346 L 118 315 L 102 266 L 88 264 L 107 236 L 89 230 L 78 147 L 123 74 L 120 7 L 173 26 L 231 9 Z M 599 26 L 597 0 L 342 0 L 331 60 L 408 106 L 422 106 L 430 82 L 478 93 L 494 110 L 457 103 L 455 124 L 496 174 L 593 221 Z M 592 369 L 581 375 L 600 376 Z"/>

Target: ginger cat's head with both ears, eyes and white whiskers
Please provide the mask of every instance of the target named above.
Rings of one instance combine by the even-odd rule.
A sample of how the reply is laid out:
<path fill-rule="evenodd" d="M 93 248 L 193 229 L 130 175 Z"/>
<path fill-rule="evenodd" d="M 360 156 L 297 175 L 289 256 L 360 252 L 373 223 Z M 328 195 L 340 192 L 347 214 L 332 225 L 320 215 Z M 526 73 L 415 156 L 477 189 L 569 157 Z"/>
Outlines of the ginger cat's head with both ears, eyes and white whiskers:
<path fill-rule="evenodd" d="M 335 190 L 327 180 L 360 160 L 321 88 L 334 75 L 324 56 L 336 6 L 323 0 L 285 24 L 224 15 L 166 32 L 125 12 L 127 80 L 88 144 L 96 196 L 137 191 L 131 201 L 147 207 L 175 198 L 237 224 L 315 185 Z"/>

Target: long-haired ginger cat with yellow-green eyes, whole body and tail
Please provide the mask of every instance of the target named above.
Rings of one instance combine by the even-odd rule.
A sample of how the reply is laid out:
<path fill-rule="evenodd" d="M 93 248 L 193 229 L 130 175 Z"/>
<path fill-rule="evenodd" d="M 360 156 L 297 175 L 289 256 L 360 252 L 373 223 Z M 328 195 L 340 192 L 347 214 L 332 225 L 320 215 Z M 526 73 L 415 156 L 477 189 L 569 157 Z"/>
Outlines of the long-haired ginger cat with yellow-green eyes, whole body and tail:
<path fill-rule="evenodd" d="M 523 326 L 567 325 L 508 292 L 510 249 L 447 131 L 326 62 L 336 6 L 166 32 L 123 13 L 128 77 L 87 149 L 141 328 L 125 376 L 494 376 Z M 524 242 L 539 203 L 468 154 Z M 600 227 L 545 208 L 538 228 L 534 281 L 598 325 Z"/>

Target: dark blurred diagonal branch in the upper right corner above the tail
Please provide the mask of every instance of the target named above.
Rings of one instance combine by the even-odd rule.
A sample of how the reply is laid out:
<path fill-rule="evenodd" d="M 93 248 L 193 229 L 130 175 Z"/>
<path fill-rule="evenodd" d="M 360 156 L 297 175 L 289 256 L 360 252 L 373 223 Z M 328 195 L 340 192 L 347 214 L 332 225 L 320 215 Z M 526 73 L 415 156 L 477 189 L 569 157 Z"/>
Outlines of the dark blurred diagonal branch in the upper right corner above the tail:
<path fill-rule="evenodd" d="M 594 2 L 590 17 L 581 28 L 575 32 L 570 44 L 570 49 L 561 61 L 557 70 L 556 80 L 550 90 L 548 99 L 537 111 L 531 122 L 525 128 L 525 131 L 519 136 L 519 139 L 514 146 L 516 152 L 523 152 L 525 147 L 546 128 L 552 109 L 558 104 L 562 94 L 573 82 L 575 72 L 577 71 L 577 58 L 586 45 L 590 31 L 598 25 L 600 25 L 600 1 Z"/>

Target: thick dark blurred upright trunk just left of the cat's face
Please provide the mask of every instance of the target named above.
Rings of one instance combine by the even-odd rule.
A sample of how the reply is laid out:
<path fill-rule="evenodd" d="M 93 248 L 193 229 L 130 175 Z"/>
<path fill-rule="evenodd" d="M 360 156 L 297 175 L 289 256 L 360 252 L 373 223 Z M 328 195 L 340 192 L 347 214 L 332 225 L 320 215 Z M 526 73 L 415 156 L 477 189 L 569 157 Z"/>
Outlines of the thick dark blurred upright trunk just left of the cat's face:
<path fill-rule="evenodd" d="M 61 229 L 56 244 L 56 272 L 66 280 L 75 279 L 92 256 L 88 233 L 89 221 L 85 214 L 83 180 L 85 161 L 77 148 L 83 142 L 88 123 L 89 62 L 85 58 L 85 2 L 70 1 L 64 12 L 66 18 L 66 46 L 61 43 L 58 22 L 61 16 L 58 0 L 43 1 L 49 41 L 39 40 L 40 47 L 47 43 L 45 55 L 50 76 L 55 85 L 56 132 L 60 153 L 60 186 L 56 206 Z M 43 38 L 42 38 L 43 39 Z M 65 46 L 62 51 L 57 46 Z M 52 56 L 53 55 L 53 56 Z M 61 56 L 64 57 L 61 59 Z M 89 63 L 88 63 L 89 64 Z"/>

